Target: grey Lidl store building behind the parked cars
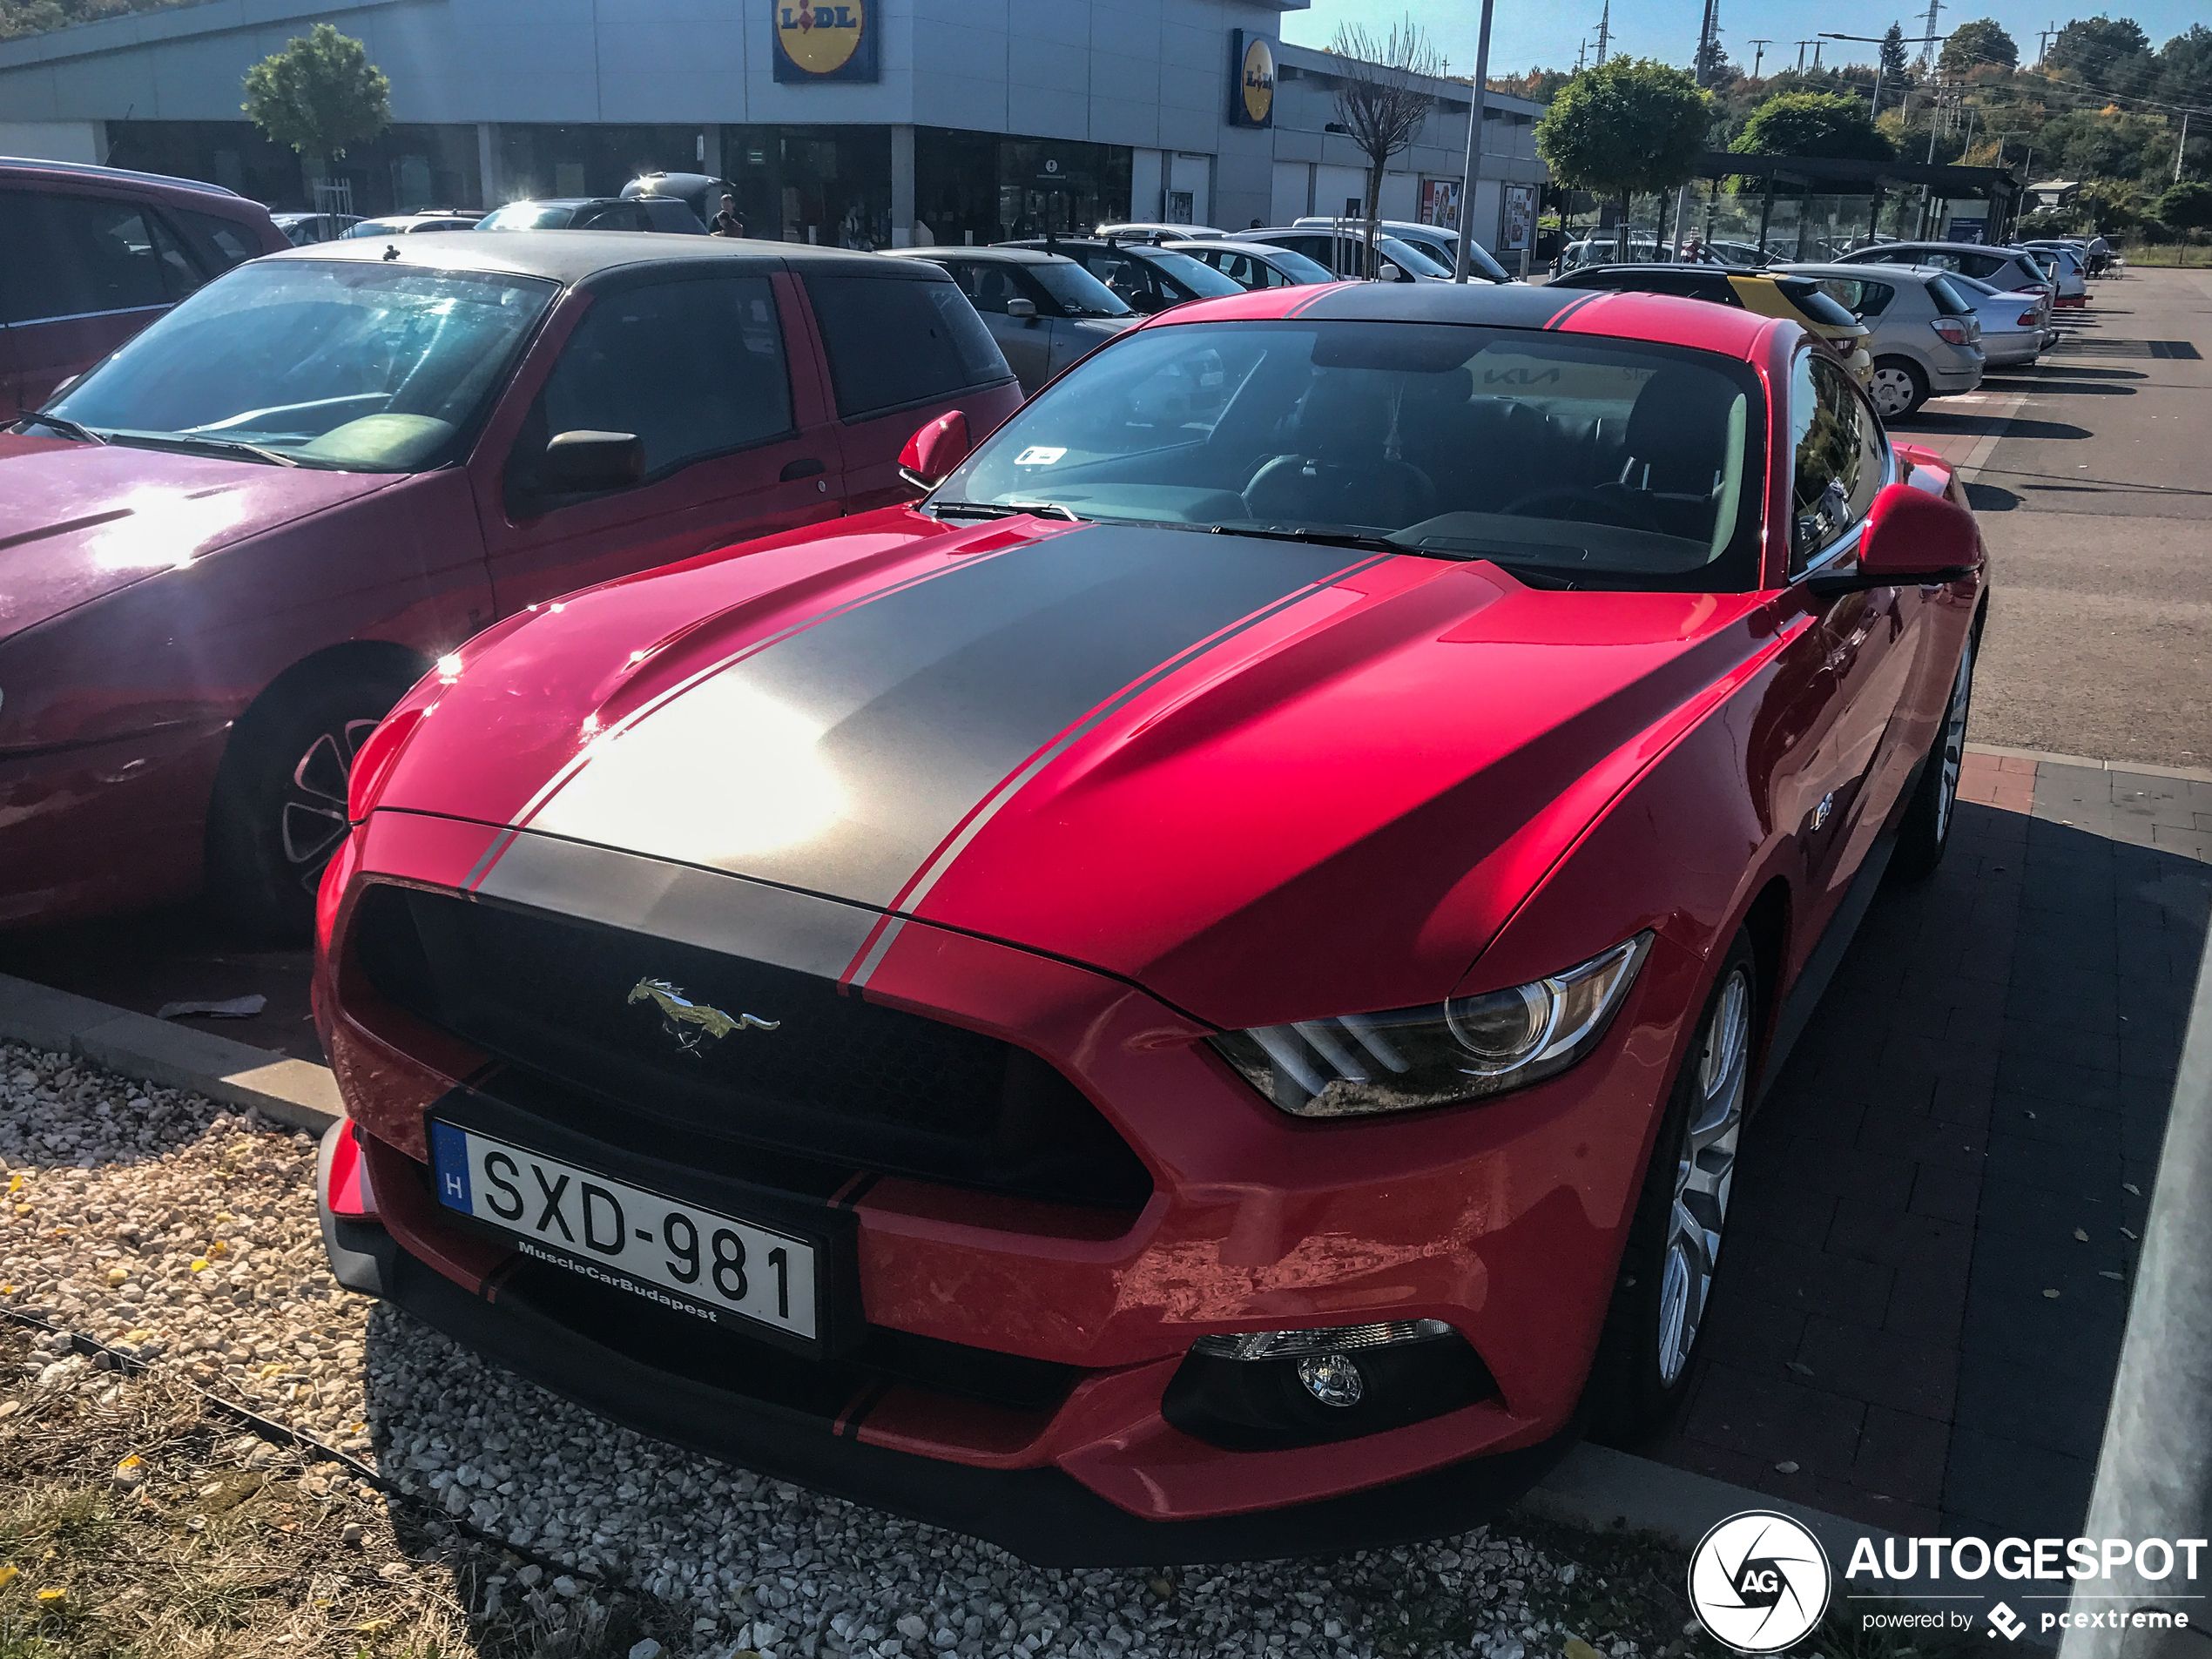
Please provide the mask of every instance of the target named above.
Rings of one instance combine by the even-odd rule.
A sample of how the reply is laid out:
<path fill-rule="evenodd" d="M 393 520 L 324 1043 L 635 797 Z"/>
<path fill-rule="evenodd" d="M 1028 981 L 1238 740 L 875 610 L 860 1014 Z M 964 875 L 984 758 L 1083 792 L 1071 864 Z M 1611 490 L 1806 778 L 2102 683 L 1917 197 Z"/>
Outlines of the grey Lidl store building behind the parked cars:
<path fill-rule="evenodd" d="M 1305 0 L 199 0 L 0 42 L 0 155 L 212 179 L 354 212 L 737 186 L 754 237 L 1002 241 L 1104 219 L 1245 228 L 1345 212 L 1329 53 Z M 394 124 L 303 164 L 241 111 L 250 64 L 330 22 L 392 77 Z M 1469 86 L 1391 161 L 1383 212 L 1458 221 Z M 1540 106 L 1491 95 L 1471 226 L 1517 248 Z"/>

